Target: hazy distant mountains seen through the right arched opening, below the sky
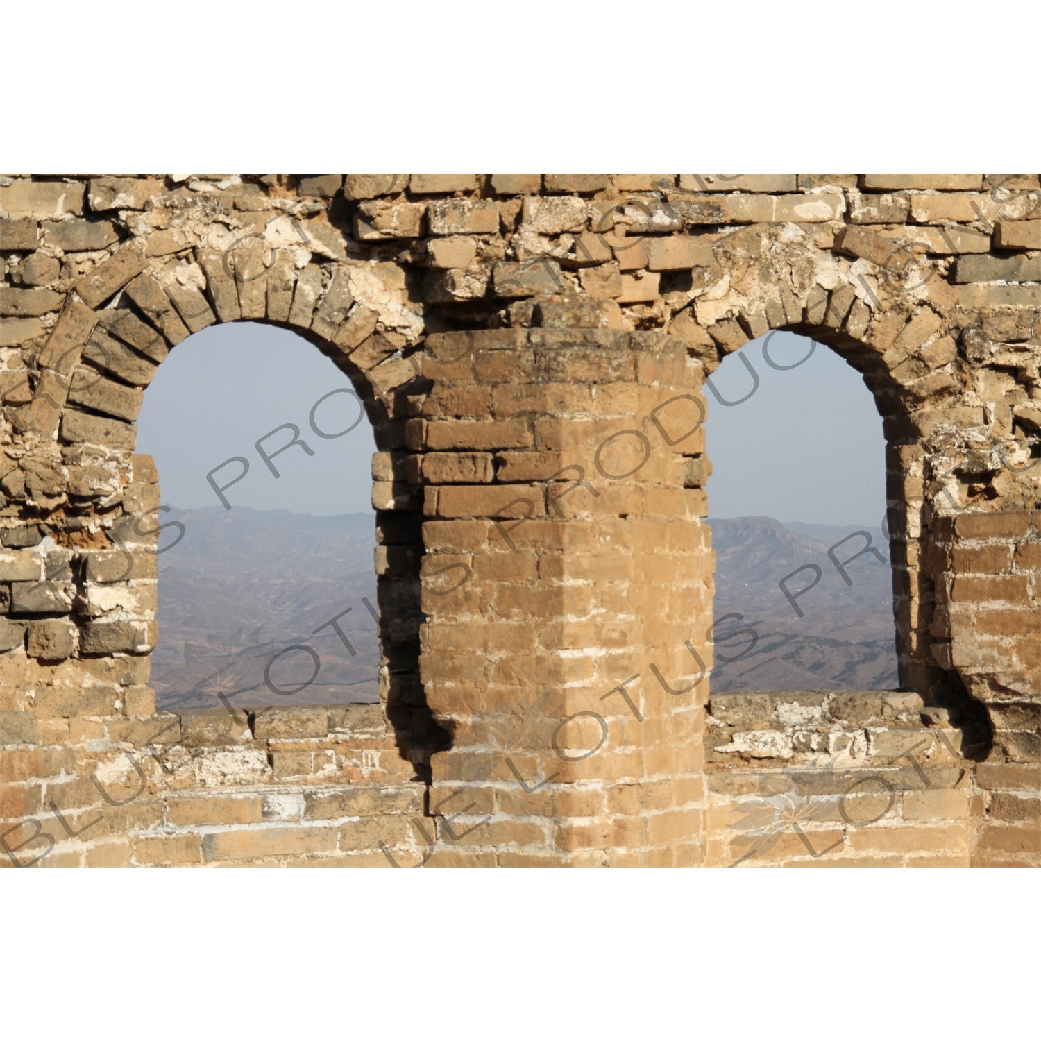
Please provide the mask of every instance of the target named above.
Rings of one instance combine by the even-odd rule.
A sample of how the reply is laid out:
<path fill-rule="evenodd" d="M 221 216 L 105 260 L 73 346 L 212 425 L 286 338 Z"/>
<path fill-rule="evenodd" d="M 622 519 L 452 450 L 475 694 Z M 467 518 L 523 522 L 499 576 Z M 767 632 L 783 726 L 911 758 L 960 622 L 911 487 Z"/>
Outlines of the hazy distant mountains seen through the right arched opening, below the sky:
<path fill-rule="evenodd" d="M 713 602 L 717 646 L 713 690 L 894 689 L 895 627 L 889 543 L 878 528 L 833 527 L 771 517 L 709 518 L 716 552 Z M 834 547 L 838 562 L 867 547 L 871 552 L 844 565 L 846 585 L 828 555 Z M 799 617 L 780 582 L 796 568 L 815 564 L 820 578 L 807 567 L 787 579 L 789 592 L 802 609 Z M 799 590 L 807 589 L 803 595 Z M 727 614 L 740 614 L 721 620 Z M 752 635 L 719 642 L 737 629 Z M 740 657 L 723 662 L 720 656 Z"/>

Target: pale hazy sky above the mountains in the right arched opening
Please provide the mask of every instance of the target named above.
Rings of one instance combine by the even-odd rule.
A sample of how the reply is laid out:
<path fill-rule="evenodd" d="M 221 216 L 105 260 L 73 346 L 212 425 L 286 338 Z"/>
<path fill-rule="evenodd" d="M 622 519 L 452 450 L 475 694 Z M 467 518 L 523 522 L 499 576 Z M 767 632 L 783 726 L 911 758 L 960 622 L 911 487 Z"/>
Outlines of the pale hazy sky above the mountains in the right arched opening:
<path fill-rule="evenodd" d="M 778 332 L 767 350 L 775 364 L 794 365 L 810 348 L 806 337 Z M 822 344 L 798 367 L 778 371 L 757 339 L 711 377 L 726 402 L 739 402 L 755 385 L 742 356 L 759 378 L 751 398 L 722 405 L 705 389 L 709 515 L 878 528 L 886 509 L 885 439 L 861 375 Z"/>

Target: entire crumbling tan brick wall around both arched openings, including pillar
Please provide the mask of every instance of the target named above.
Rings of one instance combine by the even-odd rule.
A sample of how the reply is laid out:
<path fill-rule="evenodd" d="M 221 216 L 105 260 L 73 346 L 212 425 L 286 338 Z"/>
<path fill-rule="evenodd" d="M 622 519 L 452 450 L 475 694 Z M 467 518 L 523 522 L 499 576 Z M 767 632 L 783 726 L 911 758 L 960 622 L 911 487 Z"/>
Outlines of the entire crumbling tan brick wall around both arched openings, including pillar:
<path fill-rule="evenodd" d="M 1039 231 L 1033 174 L 0 178 L 0 862 L 1038 863 Z M 239 320 L 373 423 L 378 712 L 155 713 L 133 424 Z M 900 694 L 710 703 L 701 387 L 782 328 L 884 418 Z"/>

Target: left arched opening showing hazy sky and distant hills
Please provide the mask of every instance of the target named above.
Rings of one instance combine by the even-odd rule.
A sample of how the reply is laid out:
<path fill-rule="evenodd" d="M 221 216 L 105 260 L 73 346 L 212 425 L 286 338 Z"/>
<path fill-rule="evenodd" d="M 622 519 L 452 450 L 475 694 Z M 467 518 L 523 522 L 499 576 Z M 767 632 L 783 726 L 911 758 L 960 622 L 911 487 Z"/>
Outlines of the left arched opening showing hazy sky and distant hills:
<path fill-rule="evenodd" d="M 138 420 L 160 710 L 378 701 L 374 450 L 351 381 L 296 333 L 235 323 L 171 352 Z"/>

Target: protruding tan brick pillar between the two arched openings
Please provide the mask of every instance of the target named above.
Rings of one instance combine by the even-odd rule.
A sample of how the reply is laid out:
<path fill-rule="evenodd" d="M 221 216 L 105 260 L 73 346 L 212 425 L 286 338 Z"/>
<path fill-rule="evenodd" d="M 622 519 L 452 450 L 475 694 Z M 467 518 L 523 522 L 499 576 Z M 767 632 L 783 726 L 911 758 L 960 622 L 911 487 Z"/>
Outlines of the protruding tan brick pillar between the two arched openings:
<path fill-rule="evenodd" d="M 423 371 L 434 863 L 699 863 L 700 362 L 662 333 L 510 329 L 432 335 Z"/>

